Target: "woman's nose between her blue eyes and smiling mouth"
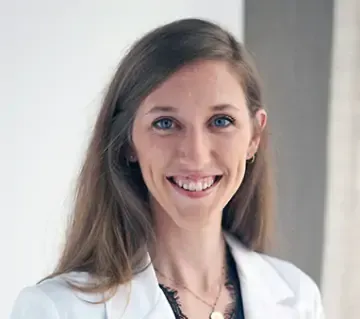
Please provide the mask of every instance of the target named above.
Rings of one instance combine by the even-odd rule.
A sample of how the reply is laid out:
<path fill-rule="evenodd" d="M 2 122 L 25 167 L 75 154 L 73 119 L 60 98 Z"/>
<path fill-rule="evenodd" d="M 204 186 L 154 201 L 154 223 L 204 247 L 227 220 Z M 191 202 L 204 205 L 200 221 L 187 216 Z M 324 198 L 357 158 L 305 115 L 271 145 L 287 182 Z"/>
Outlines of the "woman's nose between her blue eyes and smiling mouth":
<path fill-rule="evenodd" d="M 180 161 L 193 170 L 202 170 L 211 159 L 211 141 L 209 133 L 202 129 L 186 132 L 179 143 Z"/>

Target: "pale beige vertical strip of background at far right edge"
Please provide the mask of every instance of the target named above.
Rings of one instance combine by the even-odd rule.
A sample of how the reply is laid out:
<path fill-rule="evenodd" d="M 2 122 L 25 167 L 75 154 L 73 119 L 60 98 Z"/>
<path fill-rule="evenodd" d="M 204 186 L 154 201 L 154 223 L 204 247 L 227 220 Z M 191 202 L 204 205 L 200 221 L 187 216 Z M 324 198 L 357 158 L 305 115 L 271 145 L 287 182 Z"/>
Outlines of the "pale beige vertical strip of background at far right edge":
<path fill-rule="evenodd" d="M 359 319 L 360 1 L 334 11 L 322 296 L 326 319 Z"/>

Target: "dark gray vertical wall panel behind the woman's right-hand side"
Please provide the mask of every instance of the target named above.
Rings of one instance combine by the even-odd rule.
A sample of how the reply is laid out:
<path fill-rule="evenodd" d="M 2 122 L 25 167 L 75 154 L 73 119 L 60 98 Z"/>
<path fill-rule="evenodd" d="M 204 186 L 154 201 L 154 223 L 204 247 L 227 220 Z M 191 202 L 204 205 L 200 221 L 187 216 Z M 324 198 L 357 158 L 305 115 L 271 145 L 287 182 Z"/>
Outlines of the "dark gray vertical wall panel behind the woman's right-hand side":
<path fill-rule="evenodd" d="M 263 78 L 278 185 L 278 246 L 321 278 L 333 1 L 245 1 L 245 44 Z"/>

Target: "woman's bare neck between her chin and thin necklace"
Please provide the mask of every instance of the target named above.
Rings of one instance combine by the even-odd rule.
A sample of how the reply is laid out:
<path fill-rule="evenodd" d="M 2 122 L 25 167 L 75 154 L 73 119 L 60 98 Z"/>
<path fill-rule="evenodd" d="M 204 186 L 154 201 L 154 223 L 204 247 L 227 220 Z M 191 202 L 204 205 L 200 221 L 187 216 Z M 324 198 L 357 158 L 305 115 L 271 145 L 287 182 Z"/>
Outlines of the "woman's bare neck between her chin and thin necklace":
<path fill-rule="evenodd" d="M 190 285 L 199 291 L 218 286 L 225 263 L 220 224 L 186 230 L 169 220 L 156 222 L 156 243 L 151 251 L 161 281 Z"/>

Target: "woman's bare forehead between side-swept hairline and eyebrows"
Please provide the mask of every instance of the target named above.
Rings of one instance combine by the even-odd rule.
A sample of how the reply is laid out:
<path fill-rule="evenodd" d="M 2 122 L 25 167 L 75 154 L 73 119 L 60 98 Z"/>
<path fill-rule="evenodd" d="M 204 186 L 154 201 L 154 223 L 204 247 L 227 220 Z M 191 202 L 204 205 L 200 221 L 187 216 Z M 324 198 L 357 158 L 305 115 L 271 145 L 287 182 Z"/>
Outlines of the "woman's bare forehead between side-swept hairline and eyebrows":
<path fill-rule="evenodd" d="M 200 61 L 184 66 L 144 100 L 145 105 L 212 106 L 244 104 L 240 79 L 224 61 Z M 178 105 L 177 105 L 178 104 Z"/>

